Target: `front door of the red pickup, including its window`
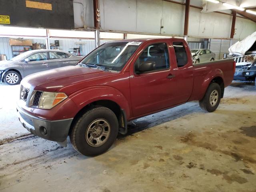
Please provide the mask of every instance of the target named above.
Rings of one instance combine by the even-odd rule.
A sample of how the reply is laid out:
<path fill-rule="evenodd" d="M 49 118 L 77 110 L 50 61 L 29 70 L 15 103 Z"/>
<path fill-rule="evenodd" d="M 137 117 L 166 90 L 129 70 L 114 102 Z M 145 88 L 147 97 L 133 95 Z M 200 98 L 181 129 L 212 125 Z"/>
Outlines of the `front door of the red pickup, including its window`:
<path fill-rule="evenodd" d="M 150 113 L 176 103 L 174 70 L 170 68 L 169 41 L 145 44 L 130 65 L 130 92 L 134 116 Z M 138 68 L 153 64 L 148 71 Z"/>

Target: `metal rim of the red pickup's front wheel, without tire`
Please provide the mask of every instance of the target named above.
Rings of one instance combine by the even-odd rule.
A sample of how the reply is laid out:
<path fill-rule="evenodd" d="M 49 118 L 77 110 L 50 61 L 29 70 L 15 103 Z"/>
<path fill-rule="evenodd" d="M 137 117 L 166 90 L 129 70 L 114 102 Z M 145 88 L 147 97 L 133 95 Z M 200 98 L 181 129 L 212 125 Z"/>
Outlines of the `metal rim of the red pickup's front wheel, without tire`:
<path fill-rule="evenodd" d="M 105 119 L 94 120 L 86 130 L 86 142 L 92 147 L 102 146 L 110 136 L 110 125 Z"/>

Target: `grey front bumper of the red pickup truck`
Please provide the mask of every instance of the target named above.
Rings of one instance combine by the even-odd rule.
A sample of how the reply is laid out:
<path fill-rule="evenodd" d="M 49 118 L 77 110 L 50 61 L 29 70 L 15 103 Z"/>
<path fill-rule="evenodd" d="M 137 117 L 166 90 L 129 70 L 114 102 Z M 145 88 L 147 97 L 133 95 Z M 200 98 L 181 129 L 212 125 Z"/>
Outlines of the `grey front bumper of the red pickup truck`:
<path fill-rule="evenodd" d="M 61 146 L 66 146 L 73 118 L 49 121 L 32 116 L 19 107 L 17 107 L 17 112 L 22 126 L 29 132 L 46 140 L 56 141 Z"/>

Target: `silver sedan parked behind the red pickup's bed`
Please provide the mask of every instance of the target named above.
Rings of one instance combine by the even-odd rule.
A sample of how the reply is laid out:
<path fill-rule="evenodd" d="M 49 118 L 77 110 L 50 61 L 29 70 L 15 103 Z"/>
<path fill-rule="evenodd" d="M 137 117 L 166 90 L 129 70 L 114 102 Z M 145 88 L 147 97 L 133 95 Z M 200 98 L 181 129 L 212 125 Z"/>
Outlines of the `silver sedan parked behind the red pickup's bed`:
<path fill-rule="evenodd" d="M 214 61 L 215 53 L 208 49 L 192 49 L 191 50 L 193 63 L 201 63 L 206 61 Z"/>

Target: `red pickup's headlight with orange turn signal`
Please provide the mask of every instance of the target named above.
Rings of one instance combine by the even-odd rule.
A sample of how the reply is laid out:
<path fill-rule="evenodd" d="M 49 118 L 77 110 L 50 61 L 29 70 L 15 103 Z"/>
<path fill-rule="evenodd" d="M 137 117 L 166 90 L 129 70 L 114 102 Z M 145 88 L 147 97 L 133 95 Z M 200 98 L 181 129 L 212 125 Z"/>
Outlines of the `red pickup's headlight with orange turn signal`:
<path fill-rule="evenodd" d="M 64 101 L 68 96 L 64 93 L 43 92 L 38 104 L 40 109 L 51 109 Z"/>

